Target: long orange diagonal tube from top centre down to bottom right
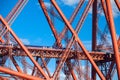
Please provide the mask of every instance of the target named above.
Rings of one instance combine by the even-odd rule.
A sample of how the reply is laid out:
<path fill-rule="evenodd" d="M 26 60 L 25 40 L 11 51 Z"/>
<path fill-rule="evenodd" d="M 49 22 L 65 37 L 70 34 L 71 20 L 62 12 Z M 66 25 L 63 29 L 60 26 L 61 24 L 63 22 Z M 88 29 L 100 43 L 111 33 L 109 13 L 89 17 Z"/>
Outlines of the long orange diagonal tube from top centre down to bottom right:
<path fill-rule="evenodd" d="M 98 66 L 95 64 L 94 60 L 92 59 L 92 57 L 90 56 L 90 54 L 88 53 L 88 51 L 85 49 L 84 45 L 82 44 L 82 42 L 80 41 L 80 39 L 78 38 L 76 32 L 74 31 L 74 29 L 72 28 L 72 26 L 70 25 L 69 21 L 66 19 L 66 17 L 64 16 L 64 14 L 62 13 L 62 11 L 60 10 L 60 8 L 58 7 L 57 3 L 55 2 L 55 0 L 51 0 L 52 4 L 54 5 L 54 7 L 56 8 L 56 10 L 58 11 L 58 13 L 60 14 L 60 16 L 62 17 L 62 19 L 64 20 L 65 24 L 67 25 L 68 29 L 72 32 L 72 34 L 75 37 L 75 40 L 78 42 L 78 44 L 80 45 L 80 47 L 82 48 L 83 52 L 85 53 L 85 55 L 87 56 L 87 58 L 89 59 L 89 61 L 91 62 L 91 64 L 94 66 L 95 70 L 97 71 L 98 75 L 100 76 L 100 78 L 102 80 L 105 80 L 104 75 L 101 73 L 101 71 L 99 70 Z"/>

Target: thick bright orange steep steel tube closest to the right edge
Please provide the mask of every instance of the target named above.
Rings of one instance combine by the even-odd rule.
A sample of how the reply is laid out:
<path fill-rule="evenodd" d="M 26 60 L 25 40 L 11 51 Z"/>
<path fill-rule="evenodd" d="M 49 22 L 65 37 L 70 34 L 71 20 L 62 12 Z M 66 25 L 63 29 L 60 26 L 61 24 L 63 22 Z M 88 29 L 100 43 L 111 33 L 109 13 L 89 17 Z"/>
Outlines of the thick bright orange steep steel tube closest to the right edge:
<path fill-rule="evenodd" d="M 118 45 L 117 45 L 116 30 L 115 30 L 110 0 L 106 0 L 106 5 L 107 5 L 109 24 L 110 24 L 109 29 L 111 32 L 113 50 L 114 50 L 115 61 L 116 61 L 116 66 L 117 66 L 117 73 L 118 73 L 117 75 L 118 75 L 118 79 L 120 80 L 120 56 L 119 56 L 119 50 L 118 50 Z"/>

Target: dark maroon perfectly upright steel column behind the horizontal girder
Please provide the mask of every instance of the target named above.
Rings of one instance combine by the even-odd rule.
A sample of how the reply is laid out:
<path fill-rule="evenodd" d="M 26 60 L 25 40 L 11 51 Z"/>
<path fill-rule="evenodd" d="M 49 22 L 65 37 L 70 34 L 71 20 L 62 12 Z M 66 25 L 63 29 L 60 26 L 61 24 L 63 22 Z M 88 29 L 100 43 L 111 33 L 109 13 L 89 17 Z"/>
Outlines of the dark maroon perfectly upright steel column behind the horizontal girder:
<path fill-rule="evenodd" d="M 92 51 L 96 51 L 97 44 L 97 0 L 94 0 L 92 9 Z M 92 79 L 96 80 L 96 71 L 92 66 Z"/>

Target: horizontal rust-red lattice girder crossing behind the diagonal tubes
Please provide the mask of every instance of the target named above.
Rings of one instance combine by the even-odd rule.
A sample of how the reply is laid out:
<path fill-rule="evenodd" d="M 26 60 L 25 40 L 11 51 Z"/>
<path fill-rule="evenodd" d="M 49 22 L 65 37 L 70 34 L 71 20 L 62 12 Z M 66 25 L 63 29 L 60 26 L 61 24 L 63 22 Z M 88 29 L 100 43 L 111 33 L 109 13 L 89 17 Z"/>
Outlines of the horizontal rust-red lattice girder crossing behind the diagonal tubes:
<path fill-rule="evenodd" d="M 61 58 L 65 49 L 56 49 L 52 47 L 44 47 L 44 46 L 26 46 L 27 49 L 31 52 L 33 57 L 42 57 L 42 58 Z M 15 45 L 0 45 L 0 55 L 5 56 L 8 55 L 9 49 L 12 51 L 13 56 L 27 56 L 25 52 L 19 47 Z M 113 60 L 112 53 L 106 52 L 89 52 L 93 60 Z M 79 56 L 78 56 L 79 55 Z M 82 51 L 70 50 L 70 55 L 68 59 L 79 59 L 79 60 L 87 60 L 87 57 Z"/>

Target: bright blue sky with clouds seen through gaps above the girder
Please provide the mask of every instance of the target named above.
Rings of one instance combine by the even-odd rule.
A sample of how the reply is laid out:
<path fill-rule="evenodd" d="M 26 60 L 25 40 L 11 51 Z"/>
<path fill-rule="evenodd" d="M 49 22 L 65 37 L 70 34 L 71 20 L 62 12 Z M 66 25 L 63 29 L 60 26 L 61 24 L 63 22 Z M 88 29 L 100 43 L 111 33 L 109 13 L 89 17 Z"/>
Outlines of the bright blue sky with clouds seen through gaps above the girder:
<path fill-rule="evenodd" d="M 17 1 L 18 0 L 0 0 L 0 15 L 2 15 L 5 18 L 7 14 L 11 11 L 11 9 L 15 6 Z M 120 31 L 119 31 L 120 13 L 116 8 L 113 0 L 111 1 L 113 5 L 113 14 L 114 14 L 117 35 L 120 35 Z M 45 2 L 46 5 L 49 7 L 49 1 L 45 0 Z M 78 3 L 78 0 L 57 0 L 57 2 L 60 8 L 62 9 L 63 13 L 69 19 Z M 87 1 L 85 3 L 87 3 Z M 83 8 L 81 11 L 83 11 Z M 74 28 L 76 25 L 76 21 L 78 21 L 80 16 L 81 13 L 79 12 L 79 15 L 72 24 Z M 99 27 L 101 28 L 101 30 L 103 30 L 104 25 L 106 24 L 103 14 L 101 14 L 99 20 L 100 20 Z M 90 45 L 92 38 L 91 23 L 92 23 L 92 16 L 91 16 L 91 11 L 89 11 L 89 14 L 79 33 L 79 37 L 82 40 L 82 42 L 85 44 L 87 49 L 91 47 Z M 57 20 L 56 18 L 54 25 L 56 26 L 56 29 L 59 33 L 62 31 L 64 26 L 64 24 L 61 21 Z M 16 20 L 14 21 L 11 27 L 25 44 L 52 46 L 55 42 L 51 29 L 45 19 L 42 9 L 38 4 L 38 0 L 29 0 L 29 2 L 24 7 L 20 15 L 16 18 Z"/>

